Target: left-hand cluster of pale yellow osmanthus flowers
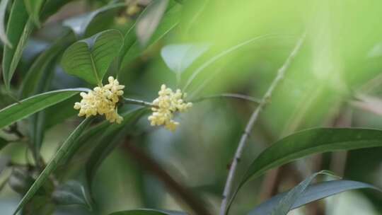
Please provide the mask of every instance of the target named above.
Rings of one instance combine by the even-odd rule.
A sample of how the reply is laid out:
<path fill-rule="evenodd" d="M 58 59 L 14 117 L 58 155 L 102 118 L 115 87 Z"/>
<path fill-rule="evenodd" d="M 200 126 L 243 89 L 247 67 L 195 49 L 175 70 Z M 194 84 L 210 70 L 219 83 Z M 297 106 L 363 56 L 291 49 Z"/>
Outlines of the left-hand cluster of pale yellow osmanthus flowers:
<path fill-rule="evenodd" d="M 105 86 L 97 86 L 93 91 L 80 93 L 82 100 L 74 104 L 74 109 L 79 110 L 79 117 L 91 117 L 94 115 L 105 115 L 109 122 L 120 124 L 123 118 L 118 115 L 117 103 L 123 95 L 123 88 L 117 79 L 112 76 L 108 79 L 109 83 Z"/>

